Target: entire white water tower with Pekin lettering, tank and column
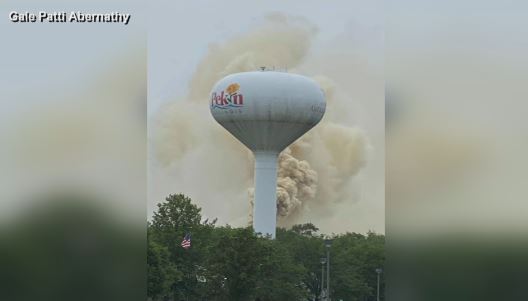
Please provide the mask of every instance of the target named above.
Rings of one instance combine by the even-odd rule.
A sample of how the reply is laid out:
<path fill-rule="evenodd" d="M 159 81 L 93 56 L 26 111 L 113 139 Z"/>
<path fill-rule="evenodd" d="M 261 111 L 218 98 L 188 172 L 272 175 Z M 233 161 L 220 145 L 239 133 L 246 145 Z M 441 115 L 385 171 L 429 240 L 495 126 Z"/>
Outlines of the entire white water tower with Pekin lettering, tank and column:
<path fill-rule="evenodd" d="M 277 157 L 323 118 L 323 91 L 297 74 L 242 72 L 214 85 L 210 107 L 215 120 L 255 155 L 253 228 L 275 238 Z"/>

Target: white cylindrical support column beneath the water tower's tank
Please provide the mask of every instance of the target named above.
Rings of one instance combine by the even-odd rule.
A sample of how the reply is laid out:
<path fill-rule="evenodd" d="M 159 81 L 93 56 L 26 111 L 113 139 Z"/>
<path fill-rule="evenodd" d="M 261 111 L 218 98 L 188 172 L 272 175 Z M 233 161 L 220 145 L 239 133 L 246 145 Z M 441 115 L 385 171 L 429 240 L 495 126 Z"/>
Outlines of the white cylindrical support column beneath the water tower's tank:
<path fill-rule="evenodd" d="M 275 238 L 277 225 L 277 157 L 275 152 L 255 152 L 253 229 Z"/>

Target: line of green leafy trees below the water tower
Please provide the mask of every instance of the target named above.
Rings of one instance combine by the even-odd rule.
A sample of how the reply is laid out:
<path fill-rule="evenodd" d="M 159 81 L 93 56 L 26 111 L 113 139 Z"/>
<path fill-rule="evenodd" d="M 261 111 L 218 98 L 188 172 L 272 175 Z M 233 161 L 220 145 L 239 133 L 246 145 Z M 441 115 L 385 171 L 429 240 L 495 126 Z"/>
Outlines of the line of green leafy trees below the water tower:
<path fill-rule="evenodd" d="M 325 236 L 318 230 L 311 223 L 279 228 L 271 240 L 256 235 L 251 227 L 202 221 L 201 208 L 190 198 L 169 195 L 148 223 L 148 298 L 319 300 L 320 259 L 326 254 L 324 240 L 330 237 L 332 300 L 376 300 L 375 270 L 383 268 L 385 237 L 373 232 Z M 192 246 L 184 249 L 180 244 L 187 233 Z"/>

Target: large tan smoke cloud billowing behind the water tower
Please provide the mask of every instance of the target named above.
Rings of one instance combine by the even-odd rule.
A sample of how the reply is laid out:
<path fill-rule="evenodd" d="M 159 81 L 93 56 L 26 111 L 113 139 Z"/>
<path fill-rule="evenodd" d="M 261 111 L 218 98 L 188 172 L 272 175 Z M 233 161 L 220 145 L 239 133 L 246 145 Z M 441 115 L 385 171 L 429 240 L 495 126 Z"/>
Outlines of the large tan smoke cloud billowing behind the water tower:
<path fill-rule="evenodd" d="M 211 87 L 227 74 L 260 66 L 299 70 L 310 59 L 316 32 L 306 20 L 274 14 L 251 32 L 211 45 L 192 77 L 188 97 L 167 103 L 155 116 L 150 131 L 154 159 L 172 170 L 180 187 L 195 188 L 191 195 L 206 212 L 226 222 L 245 223 L 253 200 L 253 156 L 210 116 Z M 327 114 L 279 156 L 277 202 L 282 226 L 306 216 L 328 216 L 329 204 L 353 199 L 348 184 L 366 164 L 369 148 L 364 131 L 343 122 L 349 116 L 339 111 L 350 100 L 339 93 L 337 84 L 326 76 L 302 73 L 313 76 L 324 90 Z"/>

